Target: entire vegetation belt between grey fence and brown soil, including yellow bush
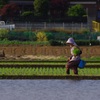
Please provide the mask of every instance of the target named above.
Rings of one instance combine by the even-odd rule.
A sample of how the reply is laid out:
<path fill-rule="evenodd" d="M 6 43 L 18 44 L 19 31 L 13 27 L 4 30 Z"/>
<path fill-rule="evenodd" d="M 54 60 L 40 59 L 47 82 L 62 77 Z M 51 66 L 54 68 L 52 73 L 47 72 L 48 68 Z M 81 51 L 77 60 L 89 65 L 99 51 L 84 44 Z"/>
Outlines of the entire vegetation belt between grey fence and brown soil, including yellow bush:
<path fill-rule="evenodd" d="M 66 45 L 66 40 L 73 37 L 78 45 L 100 45 L 99 32 L 70 33 L 67 30 L 12 30 L 0 29 L 0 44 Z"/>

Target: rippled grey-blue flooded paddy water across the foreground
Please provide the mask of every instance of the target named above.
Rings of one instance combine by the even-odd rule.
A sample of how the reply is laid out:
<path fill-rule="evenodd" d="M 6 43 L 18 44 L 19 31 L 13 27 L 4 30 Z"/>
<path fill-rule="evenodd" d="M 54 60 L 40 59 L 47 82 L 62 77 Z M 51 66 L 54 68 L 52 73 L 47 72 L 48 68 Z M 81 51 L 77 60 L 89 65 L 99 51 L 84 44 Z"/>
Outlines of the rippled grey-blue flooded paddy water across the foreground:
<path fill-rule="evenodd" d="M 100 100 L 100 80 L 0 80 L 0 100 Z"/>

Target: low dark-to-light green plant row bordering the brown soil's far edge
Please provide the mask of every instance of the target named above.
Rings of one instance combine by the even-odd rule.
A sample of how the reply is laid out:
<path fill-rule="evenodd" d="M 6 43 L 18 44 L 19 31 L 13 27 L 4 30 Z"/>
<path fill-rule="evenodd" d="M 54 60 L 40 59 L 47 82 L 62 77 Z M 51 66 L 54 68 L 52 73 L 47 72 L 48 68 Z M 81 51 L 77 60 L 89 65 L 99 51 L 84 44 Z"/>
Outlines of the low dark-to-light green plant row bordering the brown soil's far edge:
<path fill-rule="evenodd" d="M 76 40 L 76 43 L 79 46 L 94 46 L 100 45 L 100 41 L 97 40 Z M 0 45 L 33 45 L 33 46 L 66 46 L 66 41 L 57 41 L 57 40 L 50 40 L 50 41 L 9 41 L 9 40 L 2 40 L 0 41 Z"/>

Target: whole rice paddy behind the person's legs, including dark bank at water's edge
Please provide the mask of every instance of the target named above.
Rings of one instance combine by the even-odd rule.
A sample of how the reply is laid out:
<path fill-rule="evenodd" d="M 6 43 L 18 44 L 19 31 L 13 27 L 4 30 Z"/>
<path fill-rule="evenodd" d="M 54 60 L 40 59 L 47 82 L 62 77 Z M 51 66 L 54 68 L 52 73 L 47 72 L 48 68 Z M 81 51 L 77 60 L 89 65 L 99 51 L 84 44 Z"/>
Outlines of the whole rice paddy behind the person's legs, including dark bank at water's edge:
<path fill-rule="evenodd" d="M 66 75 L 66 61 L 0 61 L 0 79 L 100 79 L 100 61 Z"/>

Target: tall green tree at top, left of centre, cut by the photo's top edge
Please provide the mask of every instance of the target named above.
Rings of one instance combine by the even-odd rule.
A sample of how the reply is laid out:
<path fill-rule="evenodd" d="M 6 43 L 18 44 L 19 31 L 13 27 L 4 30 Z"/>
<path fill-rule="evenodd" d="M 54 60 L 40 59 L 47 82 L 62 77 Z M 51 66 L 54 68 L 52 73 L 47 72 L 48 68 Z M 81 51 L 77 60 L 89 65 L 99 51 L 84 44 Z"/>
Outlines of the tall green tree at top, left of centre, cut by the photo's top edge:
<path fill-rule="evenodd" d="M 47 16 L 49 0 L 34 0 L 34 15 Z"/>

